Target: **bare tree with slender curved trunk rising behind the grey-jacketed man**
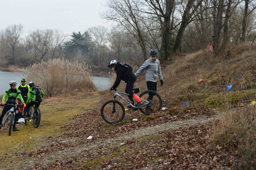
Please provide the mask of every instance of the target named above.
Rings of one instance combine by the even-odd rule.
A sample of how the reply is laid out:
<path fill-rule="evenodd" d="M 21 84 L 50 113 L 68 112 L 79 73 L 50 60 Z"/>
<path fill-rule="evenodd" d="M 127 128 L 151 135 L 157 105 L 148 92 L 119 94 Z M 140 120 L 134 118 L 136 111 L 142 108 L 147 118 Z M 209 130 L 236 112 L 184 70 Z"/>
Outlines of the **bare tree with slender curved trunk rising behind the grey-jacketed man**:
<path fill-rule="evenodd" d="M 101 14 L 101 18 L 112 20 L 123 26 L 139 42 L 144 60 L 147 59 L 145 34 L 143 29 L 143 8 L 140 0 L 107 0 L 108 11 Z"/>

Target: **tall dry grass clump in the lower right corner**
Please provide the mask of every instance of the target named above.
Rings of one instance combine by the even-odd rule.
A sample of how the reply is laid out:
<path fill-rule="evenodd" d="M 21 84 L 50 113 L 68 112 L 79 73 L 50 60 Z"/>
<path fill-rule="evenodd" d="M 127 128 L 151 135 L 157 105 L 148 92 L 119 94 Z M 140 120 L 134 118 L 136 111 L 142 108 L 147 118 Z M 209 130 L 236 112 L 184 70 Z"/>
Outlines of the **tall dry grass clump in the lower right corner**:
<path fill-rule="evenodd" d="M 241 168 L 255 168 L 256 114 L 255 105 L 228 110 L 220 122 L 213 126 L 215 145 L 238 151 Z M 223 149 L 224 149 L 223 148 Z"/>

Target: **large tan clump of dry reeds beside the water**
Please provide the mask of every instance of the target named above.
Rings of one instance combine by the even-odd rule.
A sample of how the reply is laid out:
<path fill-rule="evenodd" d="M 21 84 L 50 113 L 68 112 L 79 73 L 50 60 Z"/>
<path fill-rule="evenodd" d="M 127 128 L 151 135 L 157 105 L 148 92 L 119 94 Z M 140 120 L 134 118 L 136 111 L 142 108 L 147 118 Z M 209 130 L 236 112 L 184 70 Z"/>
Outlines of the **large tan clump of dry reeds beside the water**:
<path fill-rule="evenodd" d="M 28 66 L 23 73 L 29 81 L 40 86 L 47 96 L 97 89 L 92 82 L 88 65 L 77 61 L 70 62 L 60 58 L 42 61 Z"/>

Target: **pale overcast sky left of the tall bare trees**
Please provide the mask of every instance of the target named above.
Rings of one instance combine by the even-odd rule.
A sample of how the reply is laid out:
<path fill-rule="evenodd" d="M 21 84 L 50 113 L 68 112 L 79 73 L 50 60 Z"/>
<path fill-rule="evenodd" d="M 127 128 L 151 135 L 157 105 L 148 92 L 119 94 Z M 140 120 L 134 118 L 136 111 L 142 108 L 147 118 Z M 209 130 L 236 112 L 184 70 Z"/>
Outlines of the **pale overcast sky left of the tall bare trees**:
<path fill-rule="evenodd" d="M 0 29 L 22 24 L 24 34 L 36 29 L 58 29 L 63 33 L 110 26 L 99 13 L 106 0 L 0 0 Z"/>

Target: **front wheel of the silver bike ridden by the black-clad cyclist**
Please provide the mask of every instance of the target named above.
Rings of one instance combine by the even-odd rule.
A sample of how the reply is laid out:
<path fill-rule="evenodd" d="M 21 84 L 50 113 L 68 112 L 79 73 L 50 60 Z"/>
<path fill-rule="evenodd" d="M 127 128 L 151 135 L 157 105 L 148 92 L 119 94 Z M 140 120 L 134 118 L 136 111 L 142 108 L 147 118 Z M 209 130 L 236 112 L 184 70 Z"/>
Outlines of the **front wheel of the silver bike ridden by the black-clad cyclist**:
<path fill-rule="evenodd" d="M 110 124 L 121 122 L 124 119 L 124 106 L 119 101 L 109 100 L 100 110 L 102 119 Z"/>

